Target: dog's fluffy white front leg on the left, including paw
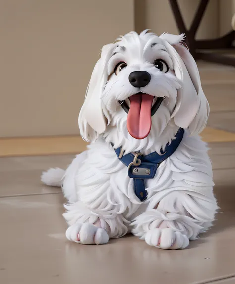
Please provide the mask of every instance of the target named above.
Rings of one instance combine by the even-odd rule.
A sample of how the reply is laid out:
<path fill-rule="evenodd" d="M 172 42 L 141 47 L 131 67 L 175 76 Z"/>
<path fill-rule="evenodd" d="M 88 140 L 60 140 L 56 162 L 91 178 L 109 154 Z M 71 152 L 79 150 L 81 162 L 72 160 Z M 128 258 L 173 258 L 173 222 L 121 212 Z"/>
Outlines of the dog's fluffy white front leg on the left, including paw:
<path fill-rule="evenodd" d="M 127 222 L 119 214 L 108 211 L 91 210 L 87 205 L 78 201 L 65 205 L 63 214 L 69 224 L 66 237 L 80 244 L 105 244 L 110 238 L 118 238 L 128 232 Z"/>

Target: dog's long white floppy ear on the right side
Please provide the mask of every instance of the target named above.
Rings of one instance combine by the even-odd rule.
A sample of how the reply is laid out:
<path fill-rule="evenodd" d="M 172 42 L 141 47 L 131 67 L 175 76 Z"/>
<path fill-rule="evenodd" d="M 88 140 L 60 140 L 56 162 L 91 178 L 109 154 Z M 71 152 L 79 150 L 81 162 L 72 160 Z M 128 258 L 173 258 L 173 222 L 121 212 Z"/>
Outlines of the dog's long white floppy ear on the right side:
<path fill-rule="evenodd" d="M 189 128 L 191 135 L 198 134 L 207 123 L 209 104 L 202 90 L 197 64 L 180 43 L 171 46 L 171 54 L 176 77 L 183 82 L 172 117 L 179 127 Z"/>

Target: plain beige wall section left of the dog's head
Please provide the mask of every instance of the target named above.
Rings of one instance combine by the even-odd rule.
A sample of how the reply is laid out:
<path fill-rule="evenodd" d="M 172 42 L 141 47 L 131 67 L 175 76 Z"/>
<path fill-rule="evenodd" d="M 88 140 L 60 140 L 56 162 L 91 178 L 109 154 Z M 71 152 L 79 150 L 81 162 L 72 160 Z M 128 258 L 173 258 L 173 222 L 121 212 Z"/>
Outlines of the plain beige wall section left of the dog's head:
<path fill-rule="evenodd" d="M 0 136 L 78 133 L 100 49 L 133 29 L 133 0 L 0 0 Z"/>

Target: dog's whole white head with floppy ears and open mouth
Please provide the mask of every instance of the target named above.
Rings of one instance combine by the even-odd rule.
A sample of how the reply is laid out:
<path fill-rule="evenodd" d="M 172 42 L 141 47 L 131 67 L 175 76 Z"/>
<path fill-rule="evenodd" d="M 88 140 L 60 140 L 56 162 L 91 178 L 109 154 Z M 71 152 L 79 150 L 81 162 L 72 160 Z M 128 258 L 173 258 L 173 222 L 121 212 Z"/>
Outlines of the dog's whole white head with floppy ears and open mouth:
<path fill-rule="evenodd" d="M 202 131 L 209 105 L 182 40 L 183 35 L 130 32 L 102 48 L 79 114 L 85 140 L 111 128 L 135 139 L 153 131 L 158 137 L 167 125 L 189 128 L 192 135 Z"/>

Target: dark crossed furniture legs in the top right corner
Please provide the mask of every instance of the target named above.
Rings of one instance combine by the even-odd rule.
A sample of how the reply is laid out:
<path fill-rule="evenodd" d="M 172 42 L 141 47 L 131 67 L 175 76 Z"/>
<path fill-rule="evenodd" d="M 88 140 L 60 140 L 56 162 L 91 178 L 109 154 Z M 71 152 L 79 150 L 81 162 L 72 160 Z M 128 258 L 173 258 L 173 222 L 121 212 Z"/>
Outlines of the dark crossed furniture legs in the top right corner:
<path fill-rule="evenodd" d="M 179 32 L 185 33 L 186 35 L 185 43 L 187 44 L 191 54 L 195 59 L 203 59 L 206 61 L 235 66 L 235 58 L 231 58 L 215 52 L 210 53 L 203 51 L 203 49 L 233 48 L 232 43 L 235 39 L 235 31 L 231 31 L 227 35 L 217 39 L 212 39 L 212 40 L 195 39 L 196 32 L 201 23 L 202 17 L 205 13 L 209 0 L 201 0 L 189 30 L 186 29 L 177 0 L 169 0 L 169 2 Z"/>

